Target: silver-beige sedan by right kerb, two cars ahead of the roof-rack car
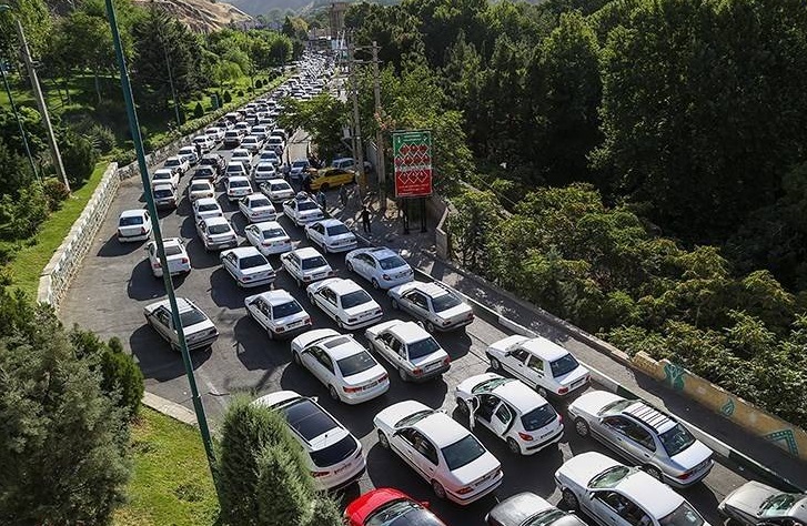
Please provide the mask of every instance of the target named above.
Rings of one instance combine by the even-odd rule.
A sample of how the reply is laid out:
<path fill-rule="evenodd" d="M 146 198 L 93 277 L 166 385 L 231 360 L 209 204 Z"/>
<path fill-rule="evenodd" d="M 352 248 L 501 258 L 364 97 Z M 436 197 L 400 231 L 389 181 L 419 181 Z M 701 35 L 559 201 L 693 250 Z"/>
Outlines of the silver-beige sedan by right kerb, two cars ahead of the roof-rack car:
<path fill-rule="evenodd" d="M 430 333 L 464 327 L 474 321 L 471 305 L 440 282 L 411 281 L 393 286 L 387 295 L 393 308 L 422 321 Z"/>

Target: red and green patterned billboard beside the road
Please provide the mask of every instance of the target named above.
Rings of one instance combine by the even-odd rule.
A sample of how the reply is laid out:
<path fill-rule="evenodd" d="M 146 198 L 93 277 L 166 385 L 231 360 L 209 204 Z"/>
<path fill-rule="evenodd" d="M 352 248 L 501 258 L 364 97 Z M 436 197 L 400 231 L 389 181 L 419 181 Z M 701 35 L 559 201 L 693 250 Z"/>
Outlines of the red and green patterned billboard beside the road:
<path fill-rule="evenodd" d="M 392 132 L 395 198 L 432 195 L 432 132 L 405 130 Z"/>

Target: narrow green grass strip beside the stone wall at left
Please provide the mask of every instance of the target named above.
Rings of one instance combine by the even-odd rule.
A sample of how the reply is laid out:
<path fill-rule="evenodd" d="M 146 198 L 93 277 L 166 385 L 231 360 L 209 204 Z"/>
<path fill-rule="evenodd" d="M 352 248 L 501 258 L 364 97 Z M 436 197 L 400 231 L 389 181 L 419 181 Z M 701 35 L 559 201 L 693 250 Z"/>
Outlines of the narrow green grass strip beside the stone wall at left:
<path fill-rule="evenodd" d="M 84 205 L 95 191 L 98 183 L 101 182 L 103 171 L 107 170 L 109 159 L 99 161 L 95 170 L 90 175 L 87 183 L 64 201 L 62 208 L 52 214 L 42 223 L 42 227 L 33 240 L 26 241 L 26 246 L 21 249 L 13 261 L 9 264 L 11 276 L 14 285 L 22 289 L 30 299 L 37 299 L 37 289 L 39 287 L 39 276 L 48 264 L 53 252 L 70 232 Z"/>

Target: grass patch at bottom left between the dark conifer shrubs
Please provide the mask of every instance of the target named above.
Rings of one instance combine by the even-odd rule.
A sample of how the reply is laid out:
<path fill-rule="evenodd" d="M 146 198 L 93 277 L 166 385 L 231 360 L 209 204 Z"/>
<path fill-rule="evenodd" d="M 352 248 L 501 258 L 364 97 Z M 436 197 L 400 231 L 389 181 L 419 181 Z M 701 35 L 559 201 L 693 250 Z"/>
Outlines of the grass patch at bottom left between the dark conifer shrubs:
<path fill-rule="evenodd" d="M 142 407 L 132 426 L 134 472 L 114 526 L 219 524 L 219 505 L 199 432 Z"/>

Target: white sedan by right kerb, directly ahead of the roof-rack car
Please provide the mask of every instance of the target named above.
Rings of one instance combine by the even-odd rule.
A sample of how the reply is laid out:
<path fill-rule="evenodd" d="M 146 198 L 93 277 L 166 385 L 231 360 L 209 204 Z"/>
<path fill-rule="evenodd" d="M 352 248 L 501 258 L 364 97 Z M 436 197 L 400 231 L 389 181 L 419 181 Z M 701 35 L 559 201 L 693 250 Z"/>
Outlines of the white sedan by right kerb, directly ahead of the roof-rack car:
<path fill-rule="evenodd" d="M 589 373 L 561 345 L 537 336 L 508 336 L 486 351 L 495 372 L 507 372 L 543 397 L 568 396 L 585 390 Z"/>

